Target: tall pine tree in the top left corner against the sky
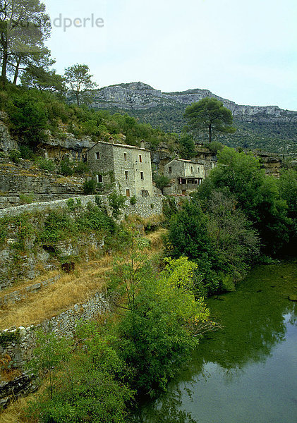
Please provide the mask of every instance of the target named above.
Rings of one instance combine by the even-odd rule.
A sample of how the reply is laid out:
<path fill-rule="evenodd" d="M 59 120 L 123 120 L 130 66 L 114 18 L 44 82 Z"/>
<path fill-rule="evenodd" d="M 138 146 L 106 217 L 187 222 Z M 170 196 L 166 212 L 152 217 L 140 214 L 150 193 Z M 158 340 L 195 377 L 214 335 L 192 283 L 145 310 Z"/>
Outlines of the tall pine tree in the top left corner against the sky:
<path fill-rule="evenodd" d="M 1 80 L 6 83 L 8 62 L 27 56 L 44 47 L 50 32 L 49 16 L 40 0 L 3 0 L 0 3 Z M 18 58 L 17 58 L 18 56 Z"/>

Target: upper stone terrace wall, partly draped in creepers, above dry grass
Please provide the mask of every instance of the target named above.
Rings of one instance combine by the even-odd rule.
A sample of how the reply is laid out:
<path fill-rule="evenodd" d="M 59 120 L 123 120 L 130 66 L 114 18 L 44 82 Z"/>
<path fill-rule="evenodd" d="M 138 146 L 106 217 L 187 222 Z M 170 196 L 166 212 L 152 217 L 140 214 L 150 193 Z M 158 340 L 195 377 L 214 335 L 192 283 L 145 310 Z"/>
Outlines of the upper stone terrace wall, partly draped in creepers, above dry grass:
<path fill-rule="evenodd" d="M 100 196 L 102 204 L 108 207 L 106 196 Z M 75 197 L 80 200 L 82 210 L 87 203 L 95 204 L 95 195 Z M 20 221 L 13 221 L 13 218 L 22 214 L 29 214 L 27 219 L 32 228 L 42 228 L 44 219 L 47 218 L 50 210 L 67 208 L 68 200 L 56 200 L 54 202 L 42 202 L 24 204 L 23 206 L 11 207 L 0 210 L 0 219 L 4 217 L 12 218 L 6 224 L 6 238 L 0 245 L 0 289 L 11 286 L 16 281 L 32 279 L 39 276 L 42 271 L 51 271 L 59 269 L 61 263 L 51 254 L 50 248 L 40 243 L 36 243 L 36 230 L 32 235 L 28 233 L 25 239 L 25 250 L 16 250 L 16 244 L 19 242 L 20 234 L 24 226 Z M 162 197 L 137 197 L 136 203 L 131 204 L 130 199 L 126 200 L 126 207 L 122 210 L 123 214 L 136 214 L 143 218 L 162 214 Z M 71 212 L 70 212 L 71 214 Z M 23 219 L 23 218 L 22 218 Z M 30 227 L 30 226 L 29 226 Z M 22 235 L 23 236 L 23 235 Z M 104 238 L 81 234 L 78 239 L 69 239 L 57 241 L 54 248 L 66 257 L 81 257 L 86 262 L 92 257 L 95 251 L 101 249 L 104 245 Z"/>

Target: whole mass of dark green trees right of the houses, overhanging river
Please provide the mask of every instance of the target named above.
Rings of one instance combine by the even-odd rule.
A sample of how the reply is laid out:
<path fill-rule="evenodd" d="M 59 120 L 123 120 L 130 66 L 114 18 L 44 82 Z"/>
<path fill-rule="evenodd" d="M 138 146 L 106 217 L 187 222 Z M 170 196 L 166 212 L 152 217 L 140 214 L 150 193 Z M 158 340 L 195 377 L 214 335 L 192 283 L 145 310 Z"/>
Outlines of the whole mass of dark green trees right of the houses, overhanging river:
<path fill-rule="evenodd" d="M 232 289 L 260 251 L 293 252 L 296 196 L 296 171 L 265 176 L 253 154 L 224 147 L 198 192 L 171 213 L 168 252 L 198 264 L 200 292 Z"/>

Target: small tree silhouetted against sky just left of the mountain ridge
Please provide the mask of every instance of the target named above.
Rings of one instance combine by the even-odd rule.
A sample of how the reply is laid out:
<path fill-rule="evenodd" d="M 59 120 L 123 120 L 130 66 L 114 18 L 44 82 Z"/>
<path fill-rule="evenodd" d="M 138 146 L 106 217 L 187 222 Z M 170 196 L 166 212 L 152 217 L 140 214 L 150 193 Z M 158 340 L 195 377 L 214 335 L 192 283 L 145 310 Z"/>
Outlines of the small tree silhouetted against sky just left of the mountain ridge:
<path fill-rule="evenodd" d="M 90 90 L 95 87 L 95 82 L 91 80 L 90 69 L 87 65 L 73 65 L 65 69 L 65 79 L 68 86 L 74 92 L 76 102 L 80 105 L 80 96 L 83 90 Z"/>

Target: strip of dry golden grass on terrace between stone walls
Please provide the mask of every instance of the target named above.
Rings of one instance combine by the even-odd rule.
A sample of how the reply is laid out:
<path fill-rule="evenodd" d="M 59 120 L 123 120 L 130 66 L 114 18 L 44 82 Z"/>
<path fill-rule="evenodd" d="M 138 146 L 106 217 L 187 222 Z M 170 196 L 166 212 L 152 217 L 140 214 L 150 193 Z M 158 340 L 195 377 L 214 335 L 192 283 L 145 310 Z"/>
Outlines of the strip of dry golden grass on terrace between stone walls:
<path fill-rule="evenodd" d="M 63 274 L 53 285 L 46 286 L 37 293 L 30 293 L 25 300 L 1 310 L 0 329 L 39 324 L 78 302 L 87 301 L 104 288 L 106 272 L 110 269 L 111 257 L 104 256 L 78 267 L 73 274 Z"/>

